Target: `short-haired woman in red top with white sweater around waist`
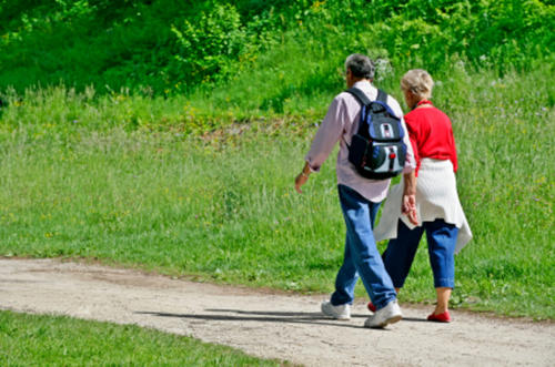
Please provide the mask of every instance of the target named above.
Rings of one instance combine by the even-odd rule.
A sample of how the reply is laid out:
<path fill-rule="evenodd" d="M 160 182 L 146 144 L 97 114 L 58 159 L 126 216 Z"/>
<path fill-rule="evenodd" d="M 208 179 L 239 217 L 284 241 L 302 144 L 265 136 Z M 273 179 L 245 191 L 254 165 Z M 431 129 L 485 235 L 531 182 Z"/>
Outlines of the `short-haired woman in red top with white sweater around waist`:
<path fill-rule="evenodd" d="M 426 232 L 437 294 L 437 304 L 427 319 L 448 323 L 448 299 L 455 285 L 454 254 L 472 238 L 472 233 L 456 191 L 457 157 L 451 121 L 430 101 L 433 84 L 432 77 L 421 69 L 410 70 L 401 81 L 406 104 L 412 109 L 405 123 L 416 159 L 416 213 L 412 214 L 418 225 L 411 224 L 401 213 L 401 182 L 387 196 L 374 236 L 376 241 L 391 238 L 383 261 L 398 293 Z"/>

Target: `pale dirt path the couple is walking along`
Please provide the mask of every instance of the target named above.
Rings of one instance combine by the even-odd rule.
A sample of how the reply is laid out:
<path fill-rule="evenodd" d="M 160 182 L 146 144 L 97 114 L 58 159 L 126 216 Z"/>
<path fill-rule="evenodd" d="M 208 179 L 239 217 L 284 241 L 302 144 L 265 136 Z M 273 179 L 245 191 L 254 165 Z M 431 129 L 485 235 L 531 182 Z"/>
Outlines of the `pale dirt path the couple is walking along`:
<path fill-rule="evenodd" d="M 97 265 L 0 258 L 0 308 L 137 324 L 309 366 L 555 365 L 555 325 L 423 308 L 385 330 L 325 319 L 323 296 L 268 294 Z M 361 299 L 362 302 L 362 299 Z"/>

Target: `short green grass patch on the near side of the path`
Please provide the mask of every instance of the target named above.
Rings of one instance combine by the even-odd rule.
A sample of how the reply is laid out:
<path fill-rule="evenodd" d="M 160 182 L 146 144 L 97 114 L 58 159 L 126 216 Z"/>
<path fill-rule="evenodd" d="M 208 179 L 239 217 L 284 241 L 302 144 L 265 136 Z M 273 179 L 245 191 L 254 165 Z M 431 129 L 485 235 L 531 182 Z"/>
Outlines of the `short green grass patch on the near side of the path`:
<path fill-rule="evenodd" d="M 134 325 L 0 312 L 2 366 L 281 366 Z"/>

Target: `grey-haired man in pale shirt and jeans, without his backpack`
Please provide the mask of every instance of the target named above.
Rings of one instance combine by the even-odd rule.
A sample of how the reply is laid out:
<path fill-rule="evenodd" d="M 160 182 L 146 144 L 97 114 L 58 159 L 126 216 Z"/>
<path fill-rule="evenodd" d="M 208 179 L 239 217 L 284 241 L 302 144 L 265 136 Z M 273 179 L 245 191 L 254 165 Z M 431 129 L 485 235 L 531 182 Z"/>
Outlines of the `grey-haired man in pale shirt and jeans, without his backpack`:
<path fill-rule="evenodd" d="M 357 88 L 371 101 L 376 100 L 377 89 L 372 85 L 374 70 L 374 64 L 367 57 L 356 53 L 350 55 L 345 61 L 347 88 Z M 387 95 L 386 103 L 402 120 L 403 112 L 397 101 Z M 376 312 L 366 319 L 364 326 L 379 328 L 398 322 L 402 313 L 397 305 L 393 283 L 385 271 L 372 232 L 375 215 L 380 203 L 386 196 L 390 180 L 364 179 L 349 162 L 349 145 L 359 129 L 361 110 L 361 104 L 351 93 L 343 92 L 335 96 L 314 136 L 303 171 L 295 179 L 295 190 L 302 193 L 301 186 L 306 183 L 309 175 L 320 170 L 335 143 L 340 141 L 336 173 L 340 202 L 346 225 L 345 253 L 343 265 L 335 279 L 335 292 L 330 300 L 322 303 L 322 313 L 336 319 L 349 319 L 354 299 L 354 287 L 360 276 L 376 307 Z M 403 120 L 402 125 L 406 132 Z M 402 211 L 408 214 L 412 222 L 416 222 L 414 214 L 415 163 L 407 133 L 405 133 L 404 143 L 407 153 L 403 170 L 405 187 Z"/>

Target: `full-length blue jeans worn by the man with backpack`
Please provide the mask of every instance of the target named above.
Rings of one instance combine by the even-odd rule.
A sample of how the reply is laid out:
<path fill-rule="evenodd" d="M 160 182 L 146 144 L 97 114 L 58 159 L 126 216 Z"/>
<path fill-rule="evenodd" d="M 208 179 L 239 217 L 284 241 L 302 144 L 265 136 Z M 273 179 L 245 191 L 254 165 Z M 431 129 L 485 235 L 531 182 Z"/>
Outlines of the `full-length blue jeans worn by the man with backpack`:
<path fill-rule="evenodd" d="M 352 304 L 360 276 L 372 303 L 377 308 L 385 307 L 396 294 L 372 232 L 380 203 L 367 201 L 345 185 L 339 185 L 339 192 L 346 225 L 345 256 L 331 303 L 334 306 Z"/>

